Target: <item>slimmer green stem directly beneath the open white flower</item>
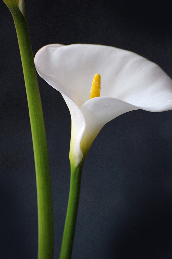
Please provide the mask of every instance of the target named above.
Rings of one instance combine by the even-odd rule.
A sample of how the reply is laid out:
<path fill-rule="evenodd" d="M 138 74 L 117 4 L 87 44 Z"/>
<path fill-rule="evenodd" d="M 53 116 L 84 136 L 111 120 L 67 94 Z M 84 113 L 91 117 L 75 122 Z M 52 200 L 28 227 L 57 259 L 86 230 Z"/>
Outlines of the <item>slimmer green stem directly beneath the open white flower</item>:
<path fill-rule="evenodd" d="M 71 166 L 70 191 L 66 214 L 60 259 L 70 259 L 72 256 L 73 240 L 77 220 L 81 173 L 83 162 L 77 168 Z"/>

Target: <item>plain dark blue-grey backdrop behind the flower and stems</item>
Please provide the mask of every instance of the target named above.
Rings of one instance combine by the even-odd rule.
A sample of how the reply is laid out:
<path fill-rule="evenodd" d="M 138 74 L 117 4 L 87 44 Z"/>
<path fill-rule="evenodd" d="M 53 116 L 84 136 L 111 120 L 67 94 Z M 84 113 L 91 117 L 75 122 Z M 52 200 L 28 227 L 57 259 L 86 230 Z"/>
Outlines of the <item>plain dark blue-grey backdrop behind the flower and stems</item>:
<path fill-rule="evenodd" d="M 25 1 L 33 53 L 50 43 L 93 43 L 136 52 L 172 77 L 171 14 L 144 1 Z M 0 258 L 37 258 L 34 158 L 19 47 L 0 1 Z M 55 89 L 39 87 L 47 131 L 54 258 L 69 193 L 70 114 Z M 72 259 L 171 259 L 172 111 L 133 111 L 109 122 L 83 168 Z"/>

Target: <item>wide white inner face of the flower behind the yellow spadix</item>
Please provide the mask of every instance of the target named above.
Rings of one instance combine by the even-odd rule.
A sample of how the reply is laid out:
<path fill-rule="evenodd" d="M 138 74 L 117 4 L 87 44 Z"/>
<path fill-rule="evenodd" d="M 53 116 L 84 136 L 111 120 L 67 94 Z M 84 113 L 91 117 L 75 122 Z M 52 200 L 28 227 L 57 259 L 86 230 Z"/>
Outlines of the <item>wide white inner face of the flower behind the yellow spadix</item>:
<path fill-rule="evenodd" d="M 47 45 L 35 56 L 40 76 L 79 107 L 89 99 L 94 74 L 100 96 L 114 97 L 148 111 L 172 109 L 172 81 L 155 63 L 115 47 Z"/>

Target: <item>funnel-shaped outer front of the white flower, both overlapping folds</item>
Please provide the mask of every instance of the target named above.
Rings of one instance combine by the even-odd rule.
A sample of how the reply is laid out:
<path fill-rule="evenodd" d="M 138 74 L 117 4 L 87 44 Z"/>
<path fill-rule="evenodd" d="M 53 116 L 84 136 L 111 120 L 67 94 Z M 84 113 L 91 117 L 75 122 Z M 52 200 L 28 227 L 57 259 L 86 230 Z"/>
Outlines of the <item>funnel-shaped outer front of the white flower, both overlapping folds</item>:
<path fill-rule="evenodd" d="M 140 109 L 137 106 L 111 97 L 89 99 L 80 108 L 69 97 L 63 95 L 71 115 L 71 142 L 69 158 L 77 167 L 103 126 L 119 115 Z"/>

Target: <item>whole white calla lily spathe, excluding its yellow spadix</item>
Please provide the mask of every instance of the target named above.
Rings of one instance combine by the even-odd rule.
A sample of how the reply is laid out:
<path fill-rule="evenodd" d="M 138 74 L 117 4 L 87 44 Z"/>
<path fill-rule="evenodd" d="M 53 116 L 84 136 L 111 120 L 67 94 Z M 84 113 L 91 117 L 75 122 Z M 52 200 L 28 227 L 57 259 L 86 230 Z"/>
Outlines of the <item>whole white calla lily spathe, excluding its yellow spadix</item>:
<path fill-rule="evenodd" d="M 172 109 L 172 80 L 155 63 L 110 46 L 51 44 L 35 55 L 38 74 L 61 92 L 71 114 L 70 162 L 85 159 L 102 127 L 117 116 L 142 109 Z M 95 74 L 100 96 L 89 99 Z"/>

